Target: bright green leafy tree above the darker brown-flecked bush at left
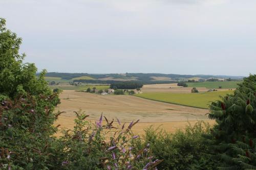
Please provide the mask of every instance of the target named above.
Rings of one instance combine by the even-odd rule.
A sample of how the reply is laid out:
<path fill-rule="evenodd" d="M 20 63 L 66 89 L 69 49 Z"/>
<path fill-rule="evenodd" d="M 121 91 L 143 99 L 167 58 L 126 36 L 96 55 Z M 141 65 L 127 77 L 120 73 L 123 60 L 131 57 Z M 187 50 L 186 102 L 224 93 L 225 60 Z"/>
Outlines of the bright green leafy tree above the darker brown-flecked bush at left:
<path fill-rule="evenodd" d="M 0 19 L 0 95 L 14 99 L 19 95 L 51 94 L 44 80 L 46 70 L 38 78 L 34 64 L 23 63 L 25 54 L 19 54 L 22 39 L 7 30 L 6 20 Z"/>

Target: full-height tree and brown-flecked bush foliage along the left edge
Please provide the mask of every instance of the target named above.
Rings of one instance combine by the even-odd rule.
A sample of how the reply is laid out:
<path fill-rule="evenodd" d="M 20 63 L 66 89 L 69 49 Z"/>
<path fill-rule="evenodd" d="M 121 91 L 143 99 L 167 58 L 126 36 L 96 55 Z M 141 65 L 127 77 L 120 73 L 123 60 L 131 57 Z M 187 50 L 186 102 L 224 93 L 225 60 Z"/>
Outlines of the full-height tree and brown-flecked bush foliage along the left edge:
<path fill-rule="evenodd" d="M 46 70 L 35 76 L 34 64 L 23 64 L 22 39 L 0 19 L 0 169 L 49 169 L 58 92 L 47 86 Z"/>

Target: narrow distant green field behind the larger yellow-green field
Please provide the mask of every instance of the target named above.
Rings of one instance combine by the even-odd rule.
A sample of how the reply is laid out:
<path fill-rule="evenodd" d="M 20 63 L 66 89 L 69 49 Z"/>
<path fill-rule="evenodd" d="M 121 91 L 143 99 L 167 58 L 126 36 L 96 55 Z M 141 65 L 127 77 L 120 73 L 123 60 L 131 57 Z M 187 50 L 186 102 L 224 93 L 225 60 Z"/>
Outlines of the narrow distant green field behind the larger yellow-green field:
<path fill-rule="evenodd" d="M 195 83 L 186 83 L 188 87 L 206 87 L 206 88 L 237 88 L 237 84 L 241 81 L 226 81 L 226 82 L 195 82 Z"/>

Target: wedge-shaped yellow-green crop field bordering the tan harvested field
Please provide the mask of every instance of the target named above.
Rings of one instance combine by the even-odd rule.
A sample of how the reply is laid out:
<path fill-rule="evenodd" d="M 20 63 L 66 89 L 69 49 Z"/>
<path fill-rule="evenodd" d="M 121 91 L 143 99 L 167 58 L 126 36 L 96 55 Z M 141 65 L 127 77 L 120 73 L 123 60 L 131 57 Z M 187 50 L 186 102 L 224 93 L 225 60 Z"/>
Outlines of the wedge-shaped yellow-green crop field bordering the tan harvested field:
<path fill-rule="evenodd" d="M 150 99 L 154 101 L 173 103 L 185 106 L 192 106 L 198 108 L 208 108 L 211 101 L 216 101 L 220 95 L 224 96 L 227 93 L 233 93 L 233 90 L 228 91 L 212 91 L 200 93 L 170 93 L 170 92 L 154 92 L 135 94 L 141 98 Z"/>

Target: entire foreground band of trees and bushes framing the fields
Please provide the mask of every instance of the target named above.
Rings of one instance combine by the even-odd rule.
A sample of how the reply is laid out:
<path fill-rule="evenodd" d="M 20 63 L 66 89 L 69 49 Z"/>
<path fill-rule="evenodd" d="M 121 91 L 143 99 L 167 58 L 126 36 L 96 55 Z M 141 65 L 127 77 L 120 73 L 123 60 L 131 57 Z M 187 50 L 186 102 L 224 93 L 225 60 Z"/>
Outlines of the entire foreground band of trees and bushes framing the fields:
<path fill-rule="evenodd" d="M 138 121 L 101 115 L 91 124 L 78 111 L 74 129 L 56 138 L 60 91 L 47 87 L 45 71 L 37 78 L 36 67 L 23 64 L 20 43 L 0 19 L 0 169 L 256 169 L 256 75 L 210 104 L 213 128 L 202 122 L 175 134 L 150 128 L 141 138 L 132 133 Z"/>

